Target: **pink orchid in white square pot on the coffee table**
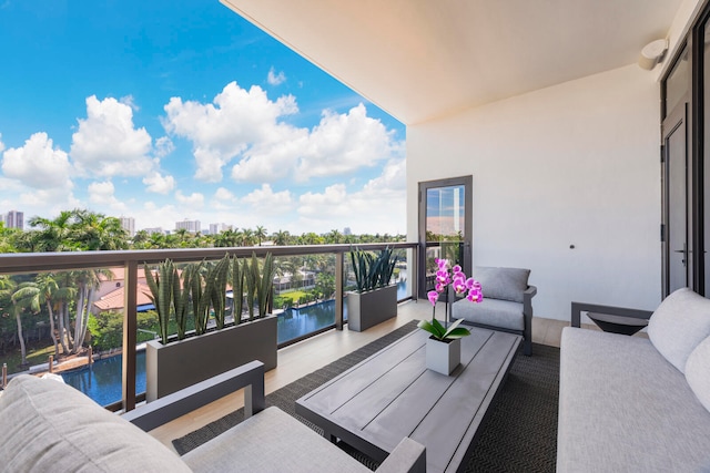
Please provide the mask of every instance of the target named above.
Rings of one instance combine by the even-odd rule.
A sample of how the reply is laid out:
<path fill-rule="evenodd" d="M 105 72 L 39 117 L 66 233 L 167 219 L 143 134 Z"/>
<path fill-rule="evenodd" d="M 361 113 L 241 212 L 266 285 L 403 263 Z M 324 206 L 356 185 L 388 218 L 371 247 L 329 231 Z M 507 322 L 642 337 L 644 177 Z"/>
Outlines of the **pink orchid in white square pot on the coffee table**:
<path fill-rule="evenodd" d="M 436 271 L 435 290 L 427 292 L 427 298 L 432 302 L 432 321 L 422 320 L 417 325 L 420 329 L 430 333 L 426 342 L 426 367 L 442 374 L 449 376 L 460 363 L 462 343 L 460 339 L 470 335 L 464 327 L 458 327 L 464 319 L 458 319 L 448 327 L 436 319 L 436 302 L 439 295 L 448 291 L 449 287 L 457 295 L 466 295 L 466 299 L 473 302 L 480 302 L 484 298 L 480 284 L 474 278 L 466 278 L 462 267 L 456 265 L 449 275 L 448 259 L 436 259 L 438 270 Z M 448 304 L 448 298 L 447 298 Z"/>

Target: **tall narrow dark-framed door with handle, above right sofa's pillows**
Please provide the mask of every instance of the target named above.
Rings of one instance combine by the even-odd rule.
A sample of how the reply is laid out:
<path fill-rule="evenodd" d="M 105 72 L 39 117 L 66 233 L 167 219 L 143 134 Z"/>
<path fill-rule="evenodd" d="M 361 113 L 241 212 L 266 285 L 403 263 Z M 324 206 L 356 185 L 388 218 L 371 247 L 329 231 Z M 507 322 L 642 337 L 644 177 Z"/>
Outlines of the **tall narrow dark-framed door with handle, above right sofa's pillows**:
<path fill-rule="evenodd" d="M 691 286 L 691 166 L 688 154 L 688 105 L 679 103 L 663 121 L 665 284 L 663 296 Z"/>

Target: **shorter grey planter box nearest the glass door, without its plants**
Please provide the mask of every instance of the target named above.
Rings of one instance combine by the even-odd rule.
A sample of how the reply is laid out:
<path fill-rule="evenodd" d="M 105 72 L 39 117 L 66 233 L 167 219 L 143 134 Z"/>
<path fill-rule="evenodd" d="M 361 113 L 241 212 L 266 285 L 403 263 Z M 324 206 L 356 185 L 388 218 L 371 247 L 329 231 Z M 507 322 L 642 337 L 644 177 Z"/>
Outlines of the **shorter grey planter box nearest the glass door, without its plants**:
<path fill-rule="evenodd" d="M 348 330 L 363 331 L 397 316 L 397 285 L 367 292 L 347 292 Z"/>

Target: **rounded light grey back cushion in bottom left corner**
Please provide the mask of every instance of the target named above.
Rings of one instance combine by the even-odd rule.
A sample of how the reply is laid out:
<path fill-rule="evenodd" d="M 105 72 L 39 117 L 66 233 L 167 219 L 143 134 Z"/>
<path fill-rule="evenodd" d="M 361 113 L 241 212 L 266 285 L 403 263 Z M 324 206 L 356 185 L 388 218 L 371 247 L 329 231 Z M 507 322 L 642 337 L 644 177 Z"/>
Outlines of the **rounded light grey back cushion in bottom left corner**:
<path fill-rule="evenodd" d="M 190 471 L 148 433 L 51 379 L 14 378 L 0 397 L 0 425 L 3 471 Z"/>

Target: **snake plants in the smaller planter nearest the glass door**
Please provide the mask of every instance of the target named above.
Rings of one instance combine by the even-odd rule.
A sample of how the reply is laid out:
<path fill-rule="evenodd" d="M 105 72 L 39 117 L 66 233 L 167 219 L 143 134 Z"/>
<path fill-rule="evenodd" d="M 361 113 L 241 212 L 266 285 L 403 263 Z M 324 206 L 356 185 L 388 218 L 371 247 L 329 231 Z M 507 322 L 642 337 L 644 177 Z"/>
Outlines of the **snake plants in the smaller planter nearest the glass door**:
<path fill-rule="evenodd" d="M 347 326 L 363 331 L 397 316 L 397 285 L 392 284 L 396 259 L 392 248 L 379 253 L 353 249 L 356 290 L 348 291 Z"/>

